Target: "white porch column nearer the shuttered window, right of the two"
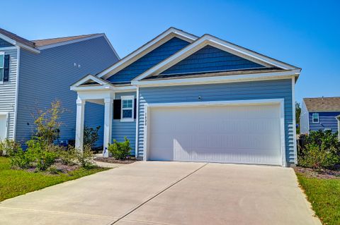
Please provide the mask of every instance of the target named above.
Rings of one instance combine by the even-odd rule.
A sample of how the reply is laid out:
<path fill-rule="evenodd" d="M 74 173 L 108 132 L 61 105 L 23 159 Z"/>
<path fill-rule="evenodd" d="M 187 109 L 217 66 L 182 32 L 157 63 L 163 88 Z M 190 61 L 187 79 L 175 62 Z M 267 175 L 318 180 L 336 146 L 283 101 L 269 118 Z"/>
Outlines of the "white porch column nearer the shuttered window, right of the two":
<path fill-rule="evenodd" d="M 113 98 L 104 99 L 104 149 L 103 157 L 108 157 L 108 144 L 112 140 Z"/>

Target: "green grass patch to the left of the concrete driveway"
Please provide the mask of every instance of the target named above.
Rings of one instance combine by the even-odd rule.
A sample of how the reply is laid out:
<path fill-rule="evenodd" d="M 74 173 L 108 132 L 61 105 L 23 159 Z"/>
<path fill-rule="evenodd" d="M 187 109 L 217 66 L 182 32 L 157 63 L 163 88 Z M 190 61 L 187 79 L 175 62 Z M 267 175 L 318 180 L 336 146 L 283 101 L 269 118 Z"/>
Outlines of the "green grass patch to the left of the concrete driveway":
<path fill-rule="evenodd" d="M 77 169 L 69 172 L 69 174 L 50 175 L 42 172 L 33 173 L 24 170 L 13 170 L 8 158 L 0 157 L 0 202 L 33 190 L 40 190 L 48 186 L 54 186 L 57 183 L 71 181 L 104 170 L 106 169 L 93 167 L 91 169 Z"/>

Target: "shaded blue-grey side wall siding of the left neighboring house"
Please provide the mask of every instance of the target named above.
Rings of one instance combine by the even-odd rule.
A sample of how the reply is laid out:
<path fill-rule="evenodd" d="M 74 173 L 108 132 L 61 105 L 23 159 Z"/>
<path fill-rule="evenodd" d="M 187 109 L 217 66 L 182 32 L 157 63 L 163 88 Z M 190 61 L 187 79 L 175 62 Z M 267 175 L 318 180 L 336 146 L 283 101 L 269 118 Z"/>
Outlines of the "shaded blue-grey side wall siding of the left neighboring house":
<path fill-rule="evenodd" d="M 74 140 L 77 92 L 69 86 L 88 73 L 96 74 L 117 61 L 113 50 L 104 37 L 45 49 L 40 54 L 21 49 L 20 78 L 18 87 L 18 117 L 16 140 L 25 142 L 34 130 L 31 113 L 46 109 L 59 99 L 63 123 L 60 140 Z M 80 67 L 74 66 L 74 63 Z M 94 111 L 92 111 L 92 109 Z M 101 124 L 103 107 L 86 105 L 86 123 L 91 120 Z M 91 123 L 94 124 L 94 123 Z M 96 123 L 97 124 L 97 123 Z"/>

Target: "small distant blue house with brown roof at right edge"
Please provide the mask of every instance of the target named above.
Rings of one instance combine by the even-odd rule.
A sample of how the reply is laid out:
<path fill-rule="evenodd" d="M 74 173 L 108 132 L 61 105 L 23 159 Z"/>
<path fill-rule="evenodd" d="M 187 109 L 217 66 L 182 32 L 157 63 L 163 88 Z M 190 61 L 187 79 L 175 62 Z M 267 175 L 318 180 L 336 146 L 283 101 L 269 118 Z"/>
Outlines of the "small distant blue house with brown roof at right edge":
<path fill-rule="evenodd" d="M 302 101 L 300 133 L 331 130 L 339 133 L 340 97 L 314 97 Z"/>

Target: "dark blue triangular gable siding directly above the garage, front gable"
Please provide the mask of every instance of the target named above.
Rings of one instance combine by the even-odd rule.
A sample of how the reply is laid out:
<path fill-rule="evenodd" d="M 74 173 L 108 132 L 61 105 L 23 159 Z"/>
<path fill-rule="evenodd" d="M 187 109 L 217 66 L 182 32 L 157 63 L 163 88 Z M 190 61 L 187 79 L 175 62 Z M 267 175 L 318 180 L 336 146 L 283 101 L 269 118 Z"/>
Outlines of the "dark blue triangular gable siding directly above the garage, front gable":
<path fill-rule="evenodd" d="M 207 45 L 176 65 L 171 66 L 162 74 L 229 71 L 263 67 L 258 63 Z"/>

